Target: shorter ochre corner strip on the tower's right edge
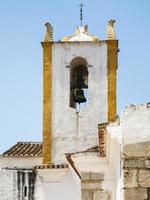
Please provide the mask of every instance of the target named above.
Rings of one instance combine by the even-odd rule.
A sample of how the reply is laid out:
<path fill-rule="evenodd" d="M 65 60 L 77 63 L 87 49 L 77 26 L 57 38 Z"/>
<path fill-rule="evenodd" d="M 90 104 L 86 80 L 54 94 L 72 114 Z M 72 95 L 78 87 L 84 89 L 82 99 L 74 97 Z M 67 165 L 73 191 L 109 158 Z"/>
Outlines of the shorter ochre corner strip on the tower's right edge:
<path fill-rule="evenodd" d="M 108 54 L 108 121 L 116 119 L 116 71 L 118 67 L 118 40 L 107 40 Z"/>

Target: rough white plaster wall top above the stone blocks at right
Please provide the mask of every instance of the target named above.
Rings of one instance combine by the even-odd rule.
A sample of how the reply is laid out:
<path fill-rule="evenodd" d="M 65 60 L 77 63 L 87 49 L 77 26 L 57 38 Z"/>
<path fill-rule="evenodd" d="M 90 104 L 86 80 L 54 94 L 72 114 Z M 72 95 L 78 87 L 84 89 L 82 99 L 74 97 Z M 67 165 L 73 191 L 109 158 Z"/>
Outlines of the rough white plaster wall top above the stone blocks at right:
<path fill-rule="evenodd" d="M 131 104 L 121 115 L 124 145 L 150 141 L 150 105 Z"/>

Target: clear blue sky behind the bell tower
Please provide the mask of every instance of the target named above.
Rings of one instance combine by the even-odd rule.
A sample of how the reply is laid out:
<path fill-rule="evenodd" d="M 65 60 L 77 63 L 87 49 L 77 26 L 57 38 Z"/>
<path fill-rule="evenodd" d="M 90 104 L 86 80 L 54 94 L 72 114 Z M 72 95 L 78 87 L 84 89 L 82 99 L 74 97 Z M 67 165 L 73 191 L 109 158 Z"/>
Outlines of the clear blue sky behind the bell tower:
<path fill-rule="evenodd" d="M 55 40 L 79 25 L 79 0 L 0 0 L 0 152 L 17 141 L 42 139 L 43 24 Z M 119 39 L 118 113 L 130 103 L 150 101 L 150 1 L 82 0 L 84 24 L 106 38 L 116 20 Z"/>

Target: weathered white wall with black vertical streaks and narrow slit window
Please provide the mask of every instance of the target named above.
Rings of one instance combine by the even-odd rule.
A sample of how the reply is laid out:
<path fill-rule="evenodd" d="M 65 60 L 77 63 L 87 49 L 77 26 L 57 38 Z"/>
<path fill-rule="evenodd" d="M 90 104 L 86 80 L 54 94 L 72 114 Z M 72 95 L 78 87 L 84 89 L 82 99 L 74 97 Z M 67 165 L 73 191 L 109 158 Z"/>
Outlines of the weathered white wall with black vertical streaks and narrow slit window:
<path fill-rule="evenodd" d="M 41 185 L 32 170 L 3 169 L 0 172 L 0 180 L 0 200 L 42 199 Z"/>

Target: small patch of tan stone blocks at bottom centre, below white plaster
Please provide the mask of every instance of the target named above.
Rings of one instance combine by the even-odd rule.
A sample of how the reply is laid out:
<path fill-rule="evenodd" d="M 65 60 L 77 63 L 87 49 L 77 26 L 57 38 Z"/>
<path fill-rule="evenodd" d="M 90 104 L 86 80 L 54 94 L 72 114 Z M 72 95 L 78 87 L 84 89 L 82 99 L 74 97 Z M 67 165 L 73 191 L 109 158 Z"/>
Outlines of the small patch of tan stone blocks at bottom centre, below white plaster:
<path fill-rule="evenodd" d="M 81 200 L 111 200 L 111 194 L 102 188 L 103 180 L 101 173 L 81 173 Z"/>

